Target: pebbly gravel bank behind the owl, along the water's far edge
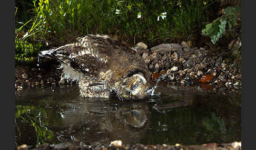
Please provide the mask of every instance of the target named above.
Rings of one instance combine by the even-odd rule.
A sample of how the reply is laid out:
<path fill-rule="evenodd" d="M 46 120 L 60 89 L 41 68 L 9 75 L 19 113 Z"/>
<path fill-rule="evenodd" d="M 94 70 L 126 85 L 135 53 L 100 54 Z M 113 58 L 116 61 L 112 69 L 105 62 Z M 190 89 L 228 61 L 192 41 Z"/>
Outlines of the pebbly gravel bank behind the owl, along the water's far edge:
<path fill-rule="evenodd" d="M 238 50 L 241 41 L 230 45 L 229 51 Z M 188 42 L 181 44 L 161 44 L 147 48 L 139 42 L 134 49 L 149 67 L 152 81 L 165 74 L 165 82 L 184 86 L 197 85 L 204 90 L 238 92 L 242 87 L 241 62 L 239 59 L 227 61 L 227 52 L 216 52 L 209 47 L 190 47 Z M 235 63 L 234 63 L 235 62 Z M 55 60 L 42 60 L 35 67 L 15 67 L 15 92 L 28 87 L 76 84 L 61 81 L 62 70 Z"/>

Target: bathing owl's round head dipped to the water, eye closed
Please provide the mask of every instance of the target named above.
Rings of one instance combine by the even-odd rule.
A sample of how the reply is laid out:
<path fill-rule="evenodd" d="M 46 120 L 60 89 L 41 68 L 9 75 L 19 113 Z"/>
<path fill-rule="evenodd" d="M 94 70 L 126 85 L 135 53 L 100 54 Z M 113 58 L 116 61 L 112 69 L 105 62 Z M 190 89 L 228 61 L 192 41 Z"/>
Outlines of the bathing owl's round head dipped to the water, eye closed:
<path fill-rule="evenodd" d="M 149 88 L 149 82 L 142 74 L 136 73 L 131 77 L 123 79 L 120 90 L 117 95 L 121 99 L 142 99 L 146 97 L 146 91 Z"/>

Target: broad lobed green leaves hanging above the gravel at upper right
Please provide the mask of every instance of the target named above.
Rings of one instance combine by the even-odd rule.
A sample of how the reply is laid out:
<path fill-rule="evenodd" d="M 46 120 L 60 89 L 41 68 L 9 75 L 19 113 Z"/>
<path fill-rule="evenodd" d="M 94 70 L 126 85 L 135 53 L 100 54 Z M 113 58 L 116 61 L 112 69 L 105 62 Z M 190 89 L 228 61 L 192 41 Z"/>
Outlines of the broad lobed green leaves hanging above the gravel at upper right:
<path fill-rule="evenodd" d="M 237 13 L 239 11 L 239 6 L 225 8 L 224 15 L 215 19 L 212 23 L 206 25 L 206 28 L 202 29 L 202 35 L 209 36 L 212 43 L 215 44 L 226 33 L 227 25 L 229 29 L 237 25 Z"/>

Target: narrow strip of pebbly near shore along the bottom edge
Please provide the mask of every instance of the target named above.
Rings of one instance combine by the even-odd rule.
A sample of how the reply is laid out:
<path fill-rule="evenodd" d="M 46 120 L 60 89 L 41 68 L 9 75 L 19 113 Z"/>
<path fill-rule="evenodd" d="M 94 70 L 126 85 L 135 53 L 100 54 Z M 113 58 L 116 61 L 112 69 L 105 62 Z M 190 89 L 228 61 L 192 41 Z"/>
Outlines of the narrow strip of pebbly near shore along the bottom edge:
<path fill-rule="evenodd" d="M 202 145 L 189 145 L 189 146 L 184 146 L 180 144 L 175 144 L 175 145 L 143 145 L 143 144 L 135 144 L 132 146 L 123 146 L 122 144 L 112 144 L 112 145 L 102 145 L 99 142 L 94 143 L 93 145 L 84 145 L 82 142 L 80 146 L 75 146 L 69 143 L 59 143 L 59 144 L 42 144 L 38 145 L 36 147 L 33 146 L 27 146 L 27 145 L 21 145 L 17 146 L 16 150 L 25 150 L 25 149 L 33 149 L 33 150 L 39 150 L 39 149 L 48 149 L 48 150 L 54 150 L 54 149 L 72 149 L 72 150 L 79 150 L 79 149 L 96 149 L 96 150 L 131 150 L 131 149 L 148 149 L 148 150 L 155 150 L 155 149 L 160 149 L 160 150 L 165 150 L 165 149 L 183 149 L 183 150 L 240 150 L 242 149 L 241 147 L 241 142 L 233 142 L 233 143 L 223 143 L 223 144 L 218 144 L 218 143 L 208 143 L 208 144 L 202 144 Z"/>

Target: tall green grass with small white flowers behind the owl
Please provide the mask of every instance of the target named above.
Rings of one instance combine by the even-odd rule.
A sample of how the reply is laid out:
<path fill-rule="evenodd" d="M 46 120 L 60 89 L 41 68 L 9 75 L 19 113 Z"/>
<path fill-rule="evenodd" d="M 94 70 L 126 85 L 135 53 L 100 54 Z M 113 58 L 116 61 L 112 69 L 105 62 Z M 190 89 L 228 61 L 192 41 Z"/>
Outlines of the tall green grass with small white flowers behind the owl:
<path fill-rule="evenodd" d="M 34 0 L 33 5 L 42 20 L 36 29 L 44 39 L 64 42 L 86 34 L 115 34 L 130 43 L 155 45 L 191 38 L 215 2 Z"/>

